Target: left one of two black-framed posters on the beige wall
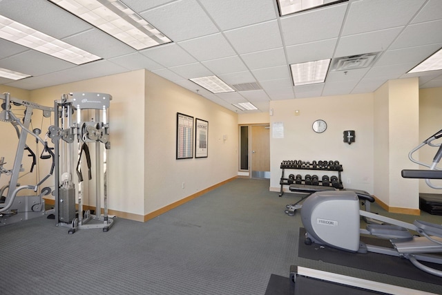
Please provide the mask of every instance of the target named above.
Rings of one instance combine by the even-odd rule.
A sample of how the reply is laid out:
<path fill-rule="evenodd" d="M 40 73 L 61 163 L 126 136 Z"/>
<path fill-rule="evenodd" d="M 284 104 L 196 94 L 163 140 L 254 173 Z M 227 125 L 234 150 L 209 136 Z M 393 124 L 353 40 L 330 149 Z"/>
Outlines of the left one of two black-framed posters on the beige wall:
<path fill-rule="evenodd" d="M 193 117 L 177 113 L 177 160 L 193 158 Z"/>

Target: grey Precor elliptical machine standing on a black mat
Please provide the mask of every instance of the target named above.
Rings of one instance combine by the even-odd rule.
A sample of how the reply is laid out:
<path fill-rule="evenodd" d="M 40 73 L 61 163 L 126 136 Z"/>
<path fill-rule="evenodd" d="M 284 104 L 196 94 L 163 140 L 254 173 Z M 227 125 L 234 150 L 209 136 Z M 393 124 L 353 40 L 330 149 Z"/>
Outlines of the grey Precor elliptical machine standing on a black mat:
<path fill-rule="evenodd" d="M 442 189 L 431 184 L 430 179 L 442 179 L 442 171 L 436 168 L 442 158 L 442 144 L 432 142 L 442 137 L 442 130 L 416 146 L 409 158 L 412 162 L 430 168 L 430 170 L 403 170 L 403 178 L 423 178 L 434 189 Z M 422 146 L 438 146 L 431 165 L 423 164 L 412 158 L 412 153 Z M 369 224 L 360 228 L 361 216 L 379 220 L 383 224 Z M 305 200 L 301 209 L 301 220 L 306 230 L 305 243 L 327 245 L 353 253 L 368 251 L 407 258 L 410 262 L 434 276 L 442 277 L 442 271 L 423 265 L 420 261 L 442 264 L 442 225 L 415 220 L 413 224 L 379 216 L 359 209 L 359 200 L 352 191 L 318 191 Z M 421 236 L 414 236 L 410 231 Z M 394 248 L 366 245 L 360 235 L 369 234 L 390 240 Z"/>

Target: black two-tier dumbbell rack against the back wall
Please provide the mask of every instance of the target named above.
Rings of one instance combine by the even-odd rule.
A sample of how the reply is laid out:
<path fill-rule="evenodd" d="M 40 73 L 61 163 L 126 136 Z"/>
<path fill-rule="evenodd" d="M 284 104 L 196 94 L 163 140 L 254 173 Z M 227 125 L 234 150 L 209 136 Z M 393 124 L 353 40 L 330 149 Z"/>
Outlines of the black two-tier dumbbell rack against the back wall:
<path fill-rule="evenodd" d="M 340 173 L 343 171 L 343 165 L 341 164 L 334 164 L 338 161 L 312 161 L 312 162 L 306 162 L 301 160 L 286 160 L 282 161 L 280 168 L 282 170 L 282 175 L 280 179 L 280 193 L 279 196 L 281 197 L 284 194 L 284 186 L 290 185 L 293 182 L 289 182 L 289 178 L 285 178 L 285 169 L 291 169 L 291 170 L 316 170 L 316 171 L 331 171 L 331 172 L 337 172 L 338 173 L 338 182 L 340 184 L 340 189 L 343 189 L 343 182 L 340 177 Z M 320 164 L 322 163 L 322 164 Z M 333 164 L 331 164 L 333 163 Z M 322 185 L 322 181 L 318 181 L 320 185 Z"/>

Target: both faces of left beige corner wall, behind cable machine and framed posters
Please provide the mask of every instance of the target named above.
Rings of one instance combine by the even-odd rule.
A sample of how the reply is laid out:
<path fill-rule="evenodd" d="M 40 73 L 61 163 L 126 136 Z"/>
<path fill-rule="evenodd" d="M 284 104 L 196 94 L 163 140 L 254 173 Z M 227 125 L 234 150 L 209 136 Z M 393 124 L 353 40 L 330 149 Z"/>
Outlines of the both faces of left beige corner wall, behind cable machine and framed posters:
<path fill-rule="evenodd" d="M 146 70 L 41 88 L 30 91 L 28 99 L 53 106 L 62 94 L 80 91 L 113 96 L 108 207 L 117 215 L 143 220 L 148 213 L 236 176 L 236 113 Z M 209 122 L 208 158 L 175 160 L 177 112 Z M 45 122 L 42 129 L 46 132 L 50 124 Z M 91 206 L 93 183 L 84 183 L 84 203 Z"/>

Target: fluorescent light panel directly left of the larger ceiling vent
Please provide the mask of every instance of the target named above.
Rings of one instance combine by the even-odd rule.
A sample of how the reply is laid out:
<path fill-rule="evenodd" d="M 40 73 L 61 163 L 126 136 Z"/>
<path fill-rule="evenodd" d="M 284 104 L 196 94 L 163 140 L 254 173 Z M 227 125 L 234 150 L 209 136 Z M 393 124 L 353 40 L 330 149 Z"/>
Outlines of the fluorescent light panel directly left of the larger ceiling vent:
<path fill-rule="evenodd" d="M 291 77 L 295 86 L 325 82 L 330 59 L 291 64 Z"/>

